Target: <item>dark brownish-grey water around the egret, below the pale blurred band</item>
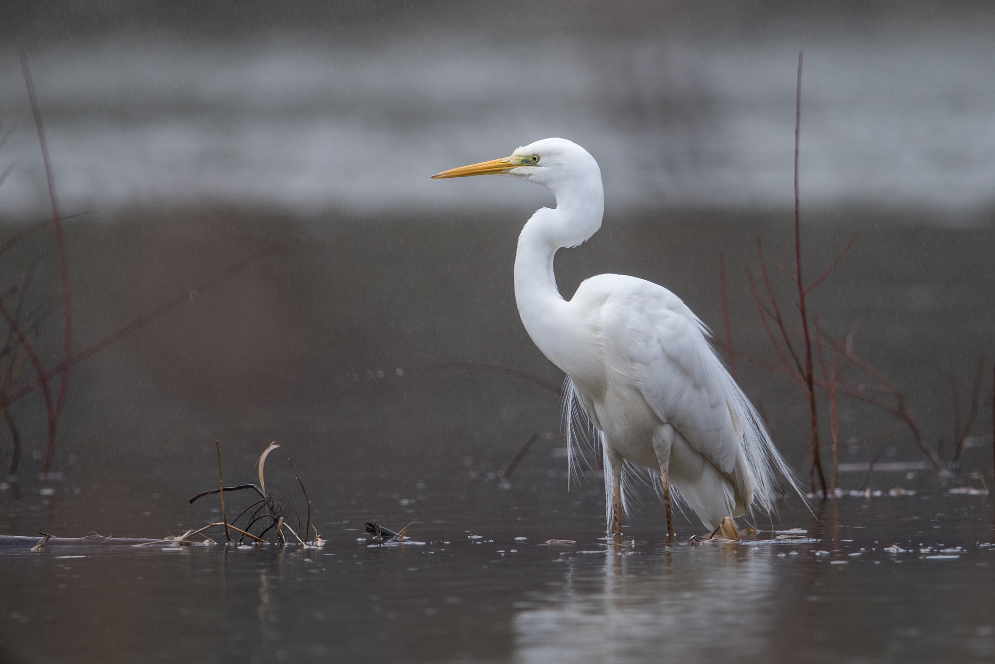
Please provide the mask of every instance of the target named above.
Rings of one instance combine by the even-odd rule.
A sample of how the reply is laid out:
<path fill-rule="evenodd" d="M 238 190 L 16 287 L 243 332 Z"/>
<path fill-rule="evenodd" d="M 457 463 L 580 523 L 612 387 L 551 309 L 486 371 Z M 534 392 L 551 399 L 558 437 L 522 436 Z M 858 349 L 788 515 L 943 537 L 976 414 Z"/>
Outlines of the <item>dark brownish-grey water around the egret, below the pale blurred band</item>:
<path fill-rule="evenodd" d="M 647 277 L 719 328 L 715 253 L 725 251 L 737 345 L 772 356 L 741 265 L 753 260 L 758 233 L 788 255 L 787 218 L 610 217 L 589 243 L 562 252 L 560 285 L 569 293 L 606 271 Z M 78 365 L 56 448 L 59 475 L 49 482 L 38 475 L 43 400 L 33 394 L 14 404 L 23 454 L 17 478 L 0 483 L 0 534 L 178 535 L 218 519 L 214 499 L 187 503 L 217 486 L 215 439 L 226 484 L 252 481 L 260 452 L 277 440 L 301 472 L 328 544 L 320 552 L 4 549 L 7 660 L 602 662 L 703 653 L 889 662 L 993 654 L 993 553 L 979 546 L 993 539 L 992 504 L 945 496 L 952 484 L 914 466 L 921 456 L 907 436 L 842 453 L 853 468 L 841 475 L 844 489 L 869 483 L 886 495 L 825 504 L 819 521 L 797 498 L 783 507 L 775 525 L 802 527 L 818 543 L 667 549 L 662 508 L 643 488 L 645 505 L 626 531 L 635 546 L 606 554 L 601 480 L 589 471 L 567 491 L 554 393 L 502 374 L 418 370 L 472 361 L 559 383 L 514 311 L 520 220 L 245 210 L 100 220 L 68 225 L 73 255 L 88 259 L 73 272 L 81 345 L 262 247 L 280 251 Z M 828 221 L 806 226 L 813 263 L 852 230 L 862 235 L 813 297 L 822 325 L 842 333 L 860 323 L 858 347 L 907 391 L 929 440 L 948 436 L 948 373 L 964 385 L 995 329 L 987 307 L 995 284 L 985 272 L 992 231 L 873 215 Z M 34 246 L 10 254 L 11 279 Z M 37 304 L 58 293 L 54 274 L 48 265 L 40 276 Z M 48 331 L 37 347 L 51 362 L 60 337 Z M 738 370 L 768 408 L 795 398 L 788 379 Z M 895 426 L 853 401 L 841 403 L 841 421 L 844 440 Z M 983 410 L 976 434 L 990 426 Z M 790 410 L 773 427 L 799 469 L 805 427 Z M 538 442 L 501 483 L 532 433 Z M 987 475 L 990 449 L 978 436 L 965 469 Z M 888 465 L 862 470 L 876 455 Z M 12 462 L 6 435 L 0 462 Z M 267 482 L 303 517 L 294 476 L 275 455 Z M 918 493 L 887 496 L 896 486 Z M 248 498 L 226 500 L 235 514 Z M 356 542 L 367 520 L 400 529 L 416 518 L 410 535 L 425 547 L 378 551 Z M 684 541 L 700 534 L 685 517 L 677 523 Z M 541 546 L 551 538 L 576 545 Z M 883 551 L 892 544 L 910 553 Z M 920 546 L 958 557 L 922 557 Z M 935 553 L 956 547 L 963 551 Z"/>

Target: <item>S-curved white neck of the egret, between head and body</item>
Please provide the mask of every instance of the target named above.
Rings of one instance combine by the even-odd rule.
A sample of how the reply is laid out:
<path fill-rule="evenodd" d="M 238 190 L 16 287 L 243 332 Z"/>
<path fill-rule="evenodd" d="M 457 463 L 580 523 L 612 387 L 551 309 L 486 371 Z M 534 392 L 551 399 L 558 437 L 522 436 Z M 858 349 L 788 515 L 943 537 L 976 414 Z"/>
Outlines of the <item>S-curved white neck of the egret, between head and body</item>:
<path fill-rule="evenodd" d="M 518 236 L 514 258 L 514 298 L 525 331 L 539 350 L 564 372 L 578 377 L 592 360 L 581 334 L 583 322 L 556 288 L 553 257 L 559 249 L 576 247 L 601 227 L 604 191 L 600 173 L 547 185 L 556 209 L 540 208 Z"/>

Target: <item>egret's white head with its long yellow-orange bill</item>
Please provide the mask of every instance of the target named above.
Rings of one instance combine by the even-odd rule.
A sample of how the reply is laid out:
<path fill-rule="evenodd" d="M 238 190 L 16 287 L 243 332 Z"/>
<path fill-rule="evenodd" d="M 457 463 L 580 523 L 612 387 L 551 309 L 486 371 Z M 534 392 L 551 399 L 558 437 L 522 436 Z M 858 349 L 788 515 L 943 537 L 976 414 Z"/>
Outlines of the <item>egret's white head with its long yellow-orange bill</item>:
<path fill-rule="evenodd" d="M 566 138 L 543 138 L 523 145 L 510 156 L 445 170 L 432 179 L 470 175 L 511 175 L 553 189 L 565 181 L 596 176 L 601 184 L 598 162 L 583 147 Z"/>

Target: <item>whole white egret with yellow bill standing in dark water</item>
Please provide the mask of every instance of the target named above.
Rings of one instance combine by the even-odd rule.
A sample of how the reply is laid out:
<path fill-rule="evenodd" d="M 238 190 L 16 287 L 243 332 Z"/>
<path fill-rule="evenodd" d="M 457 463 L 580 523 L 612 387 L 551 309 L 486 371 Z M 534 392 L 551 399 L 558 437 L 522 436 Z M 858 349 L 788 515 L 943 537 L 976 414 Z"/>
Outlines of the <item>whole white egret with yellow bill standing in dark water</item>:
<path fill-rule="evenodd" d="M 540 208 L 518 236 L 514 297 L 535 345 L 567 374 L 597 431 L 605 466 L 609 532 L 622 534 L 624 462 L 659 473 L 674 535 L 672 488 L 708 529 L 754 504 L 770 511 L 777 476 L 797 491 L 760 417 L 708 342 L 707 328 L 676 295 L 648 281 L 598 275 L 571 300 L 556 287 L 553 257 L 601 228 L 601 169 L 583 147 L 545 138 L 511 156 L 453 168 L 433 179 L 510 175 L 545 185 L 556 208 Z M 567 441 L 576 436 L 567 416 Z"/>

